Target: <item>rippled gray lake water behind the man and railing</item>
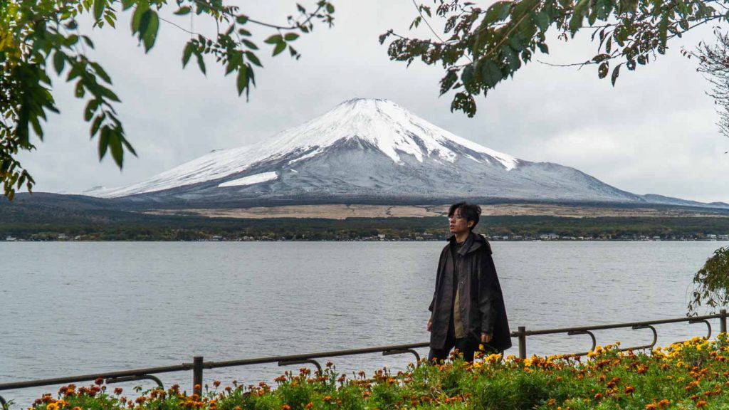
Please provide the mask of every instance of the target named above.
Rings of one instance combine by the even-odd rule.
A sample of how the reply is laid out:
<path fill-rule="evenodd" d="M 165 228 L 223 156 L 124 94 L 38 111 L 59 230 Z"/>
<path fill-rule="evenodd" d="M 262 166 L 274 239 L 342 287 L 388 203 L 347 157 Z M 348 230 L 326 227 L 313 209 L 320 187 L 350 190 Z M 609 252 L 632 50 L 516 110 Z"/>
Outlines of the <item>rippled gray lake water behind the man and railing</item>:
<path fill-rule="evenodd" d="M 176 365 L 194 355 L 232 360 L 427 341 L 427 306 L 443 244 L 0 243 L 0 382 Z M 693 274 L 727 245 L 494 242 L 492 248 L 516 330 L 682 317 Z M 703 335 L 706 326 L 658 331 L 665 345 Z M 599 344 L 620 340 L 623 346 L 652 339 L 649 330 L 596 335 Z M 528 339 L 529 355 L 588 347 L 588 336 Z M 412 360 L 373 354 L 332 361 L 338 371 L 371 374 Z M 205 380 L 257 383 L 298 367 L 206 370 Z M 189 371 L 160 378 L 165 386 L 177 382 L 190 390 L 192 384 Z M 121 387 L 136 384 L 152 387 Z M 0 395 L 27 406 L 57 390 Z"/>

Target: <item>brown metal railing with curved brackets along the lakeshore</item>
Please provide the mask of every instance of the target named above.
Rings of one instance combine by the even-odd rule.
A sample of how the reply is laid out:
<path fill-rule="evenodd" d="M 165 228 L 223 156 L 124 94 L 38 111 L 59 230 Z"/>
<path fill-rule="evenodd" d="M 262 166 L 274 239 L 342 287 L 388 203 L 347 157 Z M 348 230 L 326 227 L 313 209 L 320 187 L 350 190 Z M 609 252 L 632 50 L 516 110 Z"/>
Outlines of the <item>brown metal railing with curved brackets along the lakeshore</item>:
<path fill-rule="evenodd" d="M 543 329 L 543 330 L 526 330 L 524 326 L 519 326 L 518 330 L 511 333 L 511 337 L 518 340 L 519 357 L 526 358 L 526 338 L 528 336 L 539 336 L 549 334 L 566 333 L 568 336 L 575 335 L 588 335 L 592 339 L 593 350 L 597 346 L 597 339 L 593 330 L 609 330 L 609 329 L 620 329 L 620 328 L 631 328 L 633 330 L 650 329 L 653 333 L 653 341 L 650 344 L 644 344 L 641 346 L 624 347 L 621 351 L 626 350 L 639 350 L 639 349 L 651 349 L 655 347 L 658 341 L 658 330 L 655 329 L 655 325 L 664 325 L 668 323 L 680 323 L 688 322 L 693 323 L 704 323 L 708 328 L 706 338 L 709 339 L 712 336 L 712 325 L 709 320 L 718 319 L 720 325 L 720 332 L 726 333 L 727 331 L 727 311 L 722 309 L 718 314 L 709 314 L 706 316 L 698 317 L 679 317 L 675 319 L 663 319 L 663 320 L 649 320 L 644 322 L 628 322 L 628 323 L 614 323 L 610 325 L 594 325 L 594 326 L 580 326 L 575 328 L 556 328 L 556 329 Z M 130 382 L 135 380 L 152 380 L 157 383 L 160 387 L 163 387 L 160 379 L 155 374 L 171 373 L 176 371 L 190 371 L 192 370 L 192 392 L 200 394 L 203 386 L 203 370 L 213 368 L 226 368 L 242 365 L 257 365 L 265 363 L 278 363 L 278 365 L 297 365 L 297 364 L 311 364 L 315 365 L 319 371 L 321 371 L 321 365 L 315 359 L 323 357 L 339 357 L 339 356 L 351 356 L 351 355 L 364 355 L 367 353 L 379 353 L 383 355 L 398 355 L 402 353 L 411 353 L 415 355 L 416 362 L 420 361 L 420 355 L 414 349 L 421 347 L 428 347 L 429 343 L 413 343 L 413 344 L 396 344 L 391 346 L 380 346 L 380 347 L 366 347 L 363 349 L 348 349 L 348 350 L 334 350 L 330 352 L 316 352 L 316 353 L 305 353 L 302 355 L 285 355 L 285 356 L 272 356 L 272 357 L 257 357 L 253 359 L 241 359 L 241 360 L 226 360 L 221 362 L 206 362 L 202 356 L 195 356 L 192 358 L 192 363 L 182 363 L 179 365 L 168 365 L 163 367 L 155 368 L 139 368 L 134 370 L 125 371 L 112 371 L 105 373 L 95 374 L 84 374 L 81 376 L 68 376 L 58 377 L 55 379 L 39 379 L 39 380 L 28 380 L 26 382 L 11 382 L 11 383 L 0 383 L 0 391 L 3 390 L 15 390 L 15 389 L 26 389 L 29 387 L 43 387 L 52 386 L 54 384 L 68 384 L 78 382 L 89 382 L 97 379 L 103 379 L 106 384 Z M 587 355 L 588 352 L 572 353 L 564 356 L 582 356 Z M 0 395 L 0 406 L 3 409 L 7 408 L 7 401 Z"/>

